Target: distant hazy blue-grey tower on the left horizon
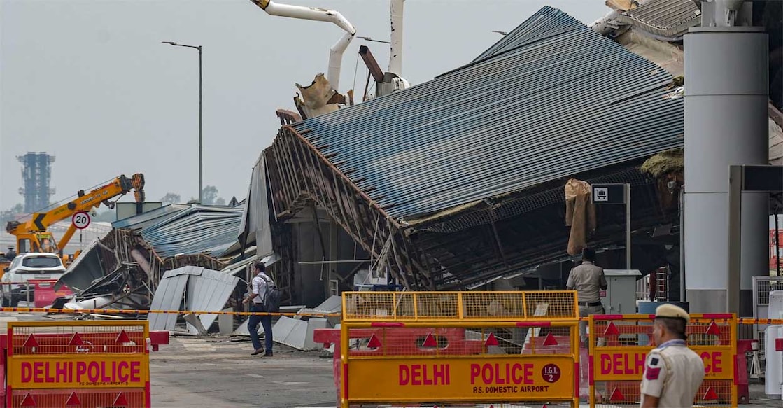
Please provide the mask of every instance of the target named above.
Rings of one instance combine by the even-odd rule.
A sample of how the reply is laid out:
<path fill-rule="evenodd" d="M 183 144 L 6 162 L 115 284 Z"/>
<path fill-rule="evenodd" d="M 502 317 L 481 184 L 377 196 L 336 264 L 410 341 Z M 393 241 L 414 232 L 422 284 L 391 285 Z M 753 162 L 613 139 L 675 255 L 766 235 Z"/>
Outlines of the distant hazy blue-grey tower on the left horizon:
<path fill-rule="evenodd" d="M 54 156 L 45 152 L 28 152 L 24 156 L 16 156 L 16 159 L 22 163 L 24 186 L 19 189 L 19 193 L 24 196 L 24 212 L 48 207 L 49 196 L 54 194 L 54 189 L 49 188 Z"/>

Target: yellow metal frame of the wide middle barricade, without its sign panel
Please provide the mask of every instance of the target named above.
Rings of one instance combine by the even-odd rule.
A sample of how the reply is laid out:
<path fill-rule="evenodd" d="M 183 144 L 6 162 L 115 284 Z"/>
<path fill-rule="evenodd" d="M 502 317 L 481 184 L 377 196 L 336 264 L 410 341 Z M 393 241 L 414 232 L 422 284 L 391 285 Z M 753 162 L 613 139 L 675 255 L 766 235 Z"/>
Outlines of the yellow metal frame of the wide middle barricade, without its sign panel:
<path fill-rule="evenodd" d="M 467 316 L 467 313 L 465 312 L 465 301 L 464 301 L 464 294 L 469 293 L 471 296 L 476 296 L 477 294 L 488 294 L 488 295 L 494 295 L 494 294 L 503 294 L 506 296 L 521 296 L 522 304 L 525 305 L 523 308 L 523 316 L 484 316 L 484 317 L 471 317 Z M 568 359 L 569 362 L 573 363 L 573 373 L 572 373 L 572 381 L 574 387 L 572 388 L 571 395 L 565 396 L 561 399 L 555 399 L 552 398 L 551 400 L 553 402 L 559 401 L 559 402 L 568 402 L 571 404 L 571 406 L 579 406 L 579 308 L 576 303 L 576 291 L 554 291 L 554 293 L 562 295 L 567 295 L 568 301 L 569 301 L 569 307 L 572 309 L 572 316 L 561 316 L 561 317 L 549 317 L 549 316 L 529 316 L 526 303 L 525 301 L 526 295 L 536 294 L 537 296 L 541 296 L 541 294 L 546 293 L 552 293 L 550 291 L 536 291 L 536 292 L 523 292 L 523 291 L 507 291 L 507 292 L 344 292 L 342 294 L 342 302 L 343 302 L 343 320 L 341 322 L 341 328 L 340 328 L 340 360 L 341 360 L 341 381 L 340 386 L 341 389 L 339 390 L 339 401 L 338 406 L 341 406 L 342 408 L 347 408 L 348 406 L 351 406 L 351 404 L 370 404 L 370 403 L 421 403 L 424 401 L 420 401 L 420 399 L 417 399 L 416 397 L 409 397 L 406 395 L 399 395 L 399 397 L 393 398 L 393 399 L 351 399 L 350 395 L 348 393 L 348 367 L 351 361 L 355 360 L 401 360 L 406 359 L 407 361 L 410 360 L 424 360 L 424 359 L 432 359 L 433 356 L 351 356 L 350 355 L 350 349 L 349 349 L 349 343 L 350 343 L 350 335 L 349 330 L 351 329 L 379 329 L 379 328 L 391 328 L 391 327 L 410 327 L 410 328 L 431 328 L 431 329 L 437 329 L 437 328 L 453 328 L 453 327 L 470 327 L 470 328 L 497 328 L 497 327 L 515 327 L 515 328 L 536 328 L 536 327 L 568 327 L 570 330 L 568 337 L 569 337 L 569 352 L 570 354 L 540 354 L 540 355 L 487 355 L 487 354 L 480 354 L 480 355 L 465 355 L 465 356 L 448 356 L 448 357 L 438 357 L 438 359 L 443 359 L 444 361 L 453 361 L 455 359 L 475 359 L 476 357 L 480 357 L 482 359 L 486 359 L 488 362 L 491 362 L 493 359 L 500 359 L 500 358 L 506 358 L 506 359 L 519 359 L 520 361 L 530 361 L 531 359 L 552 359 L 553 357 L 557 358 L 563 358 Z M 378 295 L 378 294 L 385 294 L 387 296 L 391 296 L 392 302 L 396 302 L 399 300 L 400 296 L 412 296 L 413 299 L 413 316 L 397 316 L 396 313 L 392 313 L 391 315 L 381 315 L 381 316 L 352 316 L 349 312 L 350 309 L 348 309 L 346 301 L 348 298 L 354 295 L 361 295 L 361 294 L 367 294 L 367 295 Z M 455 316 L 426 316 L 419 313 L 419 309 L 417 306 L 417 299 L 421 298 L 422 295 L 454 295 L 456 294 L 457 299 L 457 308 L 456 308 L 456 315 Z M 571 303 L 572 302 L 572 303 Z M 396 309 L 395 309 L 396 311 Z M 392 374 L 396 375 L 396 374 Z M 549 397 L 547 397 L 548 399 Z M 436 399 L 442 399 L 440 397 L 436 397 Z M 535 401 L 537 399 L 534 398 L 528 398 L 527 400 Z M 446 399 L 448 401 L 448 399 Z M 495 403 L 501 403 L 504 400 L 503 399 L 497 399 L 492 397 L 484 397 L 484 398 L 476 398 L 476 399 L 453 399 L 453 401 L 459 401 L 460 403 L 470 403 L 470 402 L 476 402 L 476 403 L 488 403 L 488 402 L 495 402 Z M 525 398 L 518 398 L 515 399 L 515 401 L 525 401 Z"/>

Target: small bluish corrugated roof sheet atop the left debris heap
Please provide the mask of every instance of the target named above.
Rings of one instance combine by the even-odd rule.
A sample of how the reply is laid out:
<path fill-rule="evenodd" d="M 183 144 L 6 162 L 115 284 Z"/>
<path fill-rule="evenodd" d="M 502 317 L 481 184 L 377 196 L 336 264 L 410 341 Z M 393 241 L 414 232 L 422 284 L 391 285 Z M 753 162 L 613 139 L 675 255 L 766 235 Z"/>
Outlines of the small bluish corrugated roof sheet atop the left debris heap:
<path fill-rule="evenodd" d="M 223 255 L 236 243 L 243 208 L 192 205 L 141 230 L 161 257 L 208 252 Z"/>

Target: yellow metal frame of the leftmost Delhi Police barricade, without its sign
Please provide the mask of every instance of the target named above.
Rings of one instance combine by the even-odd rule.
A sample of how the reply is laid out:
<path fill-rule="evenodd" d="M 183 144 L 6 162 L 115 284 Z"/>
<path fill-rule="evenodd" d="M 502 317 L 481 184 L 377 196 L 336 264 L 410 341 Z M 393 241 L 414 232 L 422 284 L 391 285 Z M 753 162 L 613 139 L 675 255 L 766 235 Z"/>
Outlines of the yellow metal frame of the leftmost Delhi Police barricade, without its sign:
<path fill-rule="evenodd" d="M 143 330 L 141 330 L 143 335 L 143 341 L 144 344 L 140 345 L 142 347 L 142 352 L 131 352 L 131 353 L 113 353 L 113 352 L 85 352 L 84 354 L 81 353 L 72 353 L 72 354 L 63 354 L 59 355 L 56 353 L 41 353 L 38 355 L 35 354 L 26 354 L 25 356 L 63 356 L 63 359 L 67 359 L 69 356 L 90 356 L 94 357 L 96 359 L 110 359 L 115 358 L 117 356 L 140 356 L 143 359 L 143 363 L 146 363 L 145 371 L 146 371 L 146 381 L 143 388 L 125 388 L 128 391 L 133 390 L 141 390 L 143 389 L 143 392 L 145 394 L 144 396 L 144 406 L 146 408 L 149 408 L 151 406 L 151 395 L 150 395 L 150 348 L 151 348 L 151 340 L 150 340 L 150 323 L 147 320 L 92 320 L 92 321 L 16 321 L 16 322 L 8 322 L 8 334 L 7 334 L 7 356 L 5 357 L 5 370 L 9 370 L 9 366 L 11 366 L 12 359 L 15 358 L 14 356 L 14 341 L 13 341 L 13 332 L 14 328 L 16 327 L 128 327 L 128 326 L 138 326 L 142 327 Z M 78 332 L 77 332 L 78 333 Z M 105 332 L 104 332 L 105 333 Z M 42 335 L 46 334 L 62 334 L 62 333 L 41 333 Z M 16 358 L 19 358 L 18 356 Z M 13 388 L 8 382 L 9 373 L 5 373 L 6 378 L 6 385 L 5 385 L 5 404 L 6 406 L 13 406 Z M 79 388 L 85 388 L 85 387 L 79 387 Z M 22 388 L 26 389 L 26 388 Z M 53 388 L 52 388 L 53 389 Z M 68 388 L 65 388 L 68 389 Z M 102 388 L 95 388 L 96 390 L 100 390 Z"/>

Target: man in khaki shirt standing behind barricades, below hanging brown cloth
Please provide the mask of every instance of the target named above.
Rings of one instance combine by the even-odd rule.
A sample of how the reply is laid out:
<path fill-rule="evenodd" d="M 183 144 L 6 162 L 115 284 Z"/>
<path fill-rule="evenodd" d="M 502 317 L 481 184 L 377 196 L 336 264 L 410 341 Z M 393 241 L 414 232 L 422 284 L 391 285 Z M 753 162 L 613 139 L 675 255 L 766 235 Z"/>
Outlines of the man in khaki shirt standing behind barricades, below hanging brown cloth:
<path fill-rule="evenodd" d="M 595 251 L 584 248 L 582 251 L 582 265 L 576 266 L 568 273 L 568 282 L 565 287 L 569 291 L 576 290 L 576 300 L 579 302 L 579 317 L 604 314 L 604 305 L 601 304 L 601 291 L 608 287 L 604 269 L 595 265 Z M 587 322 L 579 322 L 579 338 L 587 341 Z"/>

